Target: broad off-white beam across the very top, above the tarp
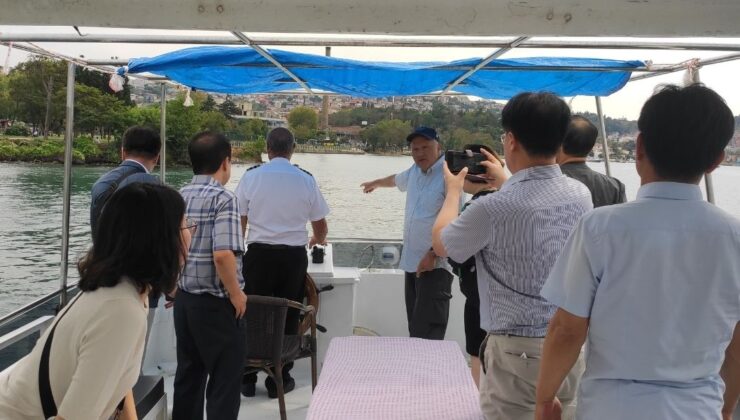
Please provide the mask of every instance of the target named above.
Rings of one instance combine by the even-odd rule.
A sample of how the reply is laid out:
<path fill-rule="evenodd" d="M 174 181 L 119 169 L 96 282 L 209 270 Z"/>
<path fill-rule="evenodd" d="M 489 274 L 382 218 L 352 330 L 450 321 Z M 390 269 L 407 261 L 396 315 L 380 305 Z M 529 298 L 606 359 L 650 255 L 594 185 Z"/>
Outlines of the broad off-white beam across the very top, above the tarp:
<path fill-rule="evenodd" d="M 740 36 L 737 0 L 0 0 L 6 25 L 299 34 Z"/>

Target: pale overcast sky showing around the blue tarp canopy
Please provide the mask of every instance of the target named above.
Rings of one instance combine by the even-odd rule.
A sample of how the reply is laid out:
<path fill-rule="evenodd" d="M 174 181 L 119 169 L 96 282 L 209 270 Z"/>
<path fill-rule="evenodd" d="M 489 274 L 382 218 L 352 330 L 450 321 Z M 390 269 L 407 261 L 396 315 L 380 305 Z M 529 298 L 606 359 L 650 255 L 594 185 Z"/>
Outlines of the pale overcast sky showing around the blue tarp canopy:
<path fill-rule="evenodd" d="M 180 34 L 180 35 L 229 35 L 228 32 L 204 31 L 156 31 L 156 30 L 124 30 L 80 28 L 84 34 Z M 0 26 L 2 33 L 56 33 L 76 34 L 71 27 L 23 27 Z M 267 34 L 261 34 L 267 35 Z M 538 38 L 545 39 L 545 38 Z M 552 39 L 552 38 L 548 38 Z M 565 38 L 567 39 L 567 38 Z M 625 38 L 599 38 L 602 41 L 625 41 Z M 656 41 L 655 39 L 646 39 Z M 740 43 L 740 39 L 681 39 L 680 41 Z M 45 49 L 70 56 L 84 55 L 87 59 L 110 59 L 115 56 L 120 59 L 134 57 L 150 57 L 176 49 L 186 48 L 186 45 L 143 45 L 143 44 L 37 44 Z M 277 47 L 279 49 L 312 54 L 324 54 L 324 47 Z M 5 62 L 8 49 L 0 46 L 0 63 Z M 450 61 L 470 57 L 485 57 L 493 50 L 482 48 L 377 48 L 377 47 L 334 47 L 332 55 L 335 57 L 351 58 L 368 61 Z M 538 50 L 521 49 L 506 53 L 502 58 L 561 56 L 561 57 L 591 57 L 611 58 L 620 60 L 652 60 L 655 64 L 675 64 L 691 58 L 710 58 L 727 54 L 726 52 L 703 51 L 651 51 L 651 50 Z M 10 65 L 26 60 L 28 54 L 13 50 L 10 54 Z M 703 83 L 715 89 L 722 95 L 732 108 L 735 115 L 740 115 L 740 60 L 707 66 L 701 69 L 700 77 Z M 642 103 L 650 96 L 656 86 L 666 83 L 681 83 L 683 72 L 654 77 L 643 81 L 629 83 L 622 90 L 604 98 L 602 103 L 604 112 L 611 117 L 636 119 Z M 577 97 L 572 101 L 576 112 L 596 111 L 594 99 Z"/>

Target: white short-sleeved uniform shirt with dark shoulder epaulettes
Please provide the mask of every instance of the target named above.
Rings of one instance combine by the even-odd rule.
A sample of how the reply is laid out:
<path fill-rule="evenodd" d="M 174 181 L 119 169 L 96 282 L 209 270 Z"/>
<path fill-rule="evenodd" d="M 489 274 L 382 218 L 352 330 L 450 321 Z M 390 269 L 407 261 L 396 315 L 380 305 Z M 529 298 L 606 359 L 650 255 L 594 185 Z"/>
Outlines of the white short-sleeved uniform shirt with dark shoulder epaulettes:
<path fill-rule="evenodd" d="M 305 246 L 306 223 L 329 214 L 313 176 L 281 157 L 248 169 L 236 196 L 241 215 L 249 222 L 247 244 Z"/>

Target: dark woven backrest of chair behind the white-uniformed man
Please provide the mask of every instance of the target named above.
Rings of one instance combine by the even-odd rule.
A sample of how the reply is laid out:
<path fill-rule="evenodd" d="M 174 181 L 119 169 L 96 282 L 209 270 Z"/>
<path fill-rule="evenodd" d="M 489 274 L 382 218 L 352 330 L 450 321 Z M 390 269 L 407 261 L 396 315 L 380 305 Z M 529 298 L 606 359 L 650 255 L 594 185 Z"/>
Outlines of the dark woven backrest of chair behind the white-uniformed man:
<path fill-rule="evenodd" d="M 277 362 L 283 351 L 288 300 L 249 295 L 247 300 L 247 359 Z"/>

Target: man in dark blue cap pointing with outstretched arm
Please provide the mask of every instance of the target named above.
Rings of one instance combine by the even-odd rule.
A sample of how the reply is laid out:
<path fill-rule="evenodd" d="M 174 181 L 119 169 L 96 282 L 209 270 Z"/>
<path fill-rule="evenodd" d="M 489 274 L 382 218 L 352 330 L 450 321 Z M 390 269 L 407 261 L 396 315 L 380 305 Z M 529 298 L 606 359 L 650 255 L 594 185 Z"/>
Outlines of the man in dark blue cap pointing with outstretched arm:
<path fill-rule="evenodd" d="M 451 268 L 432 251 L 432 226 L 445 199 L 439 137 L 433 128 L 417 127 L 406 137 L 414 164 L 407 170 L 365 182 L 365 193 L 378 187 L 406 192 L 403 252 L 399 267 L 406 272 L 406 315 L 411 337 L 444 339 L 450 309 Z"/>

